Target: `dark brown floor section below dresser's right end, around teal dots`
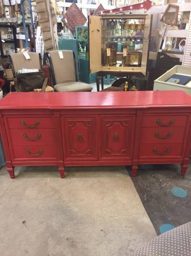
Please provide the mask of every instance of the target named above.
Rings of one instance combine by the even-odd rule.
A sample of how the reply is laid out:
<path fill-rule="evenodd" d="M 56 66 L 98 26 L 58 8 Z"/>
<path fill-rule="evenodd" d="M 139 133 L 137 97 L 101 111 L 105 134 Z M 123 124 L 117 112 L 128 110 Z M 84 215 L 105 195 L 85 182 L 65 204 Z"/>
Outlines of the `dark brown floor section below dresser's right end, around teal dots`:
<path fill-rule="evenodd" d="M 184 177 L 179 164 L 156 164 L 139 166 L 131 179 L 158 234 L 163 224 L 179 226 L 191 221 L 191 161 Z M 174 196 L 174 187 L 185 189 L 187 196 Z"/>

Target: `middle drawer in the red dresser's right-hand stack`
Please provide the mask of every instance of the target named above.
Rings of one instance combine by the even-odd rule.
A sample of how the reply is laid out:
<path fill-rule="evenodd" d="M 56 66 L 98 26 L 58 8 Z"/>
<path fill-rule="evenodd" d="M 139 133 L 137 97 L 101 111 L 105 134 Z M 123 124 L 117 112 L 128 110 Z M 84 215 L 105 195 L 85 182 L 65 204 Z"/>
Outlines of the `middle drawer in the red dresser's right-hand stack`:
<path fill-rule="evenodd" d="M 184 127 L 143 127 L 141 144 L 182 143 Z"/>

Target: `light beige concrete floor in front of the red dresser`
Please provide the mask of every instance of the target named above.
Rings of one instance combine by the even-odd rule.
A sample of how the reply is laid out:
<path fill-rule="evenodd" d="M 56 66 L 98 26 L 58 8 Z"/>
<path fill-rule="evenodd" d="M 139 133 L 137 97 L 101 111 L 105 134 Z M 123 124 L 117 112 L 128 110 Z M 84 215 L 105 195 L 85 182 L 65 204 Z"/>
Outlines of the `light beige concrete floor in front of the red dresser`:
<path fill-rule="evenodd" d="M 1 256 L 122 256 L 156 236 L 125 167 L 0 170 Z"/>

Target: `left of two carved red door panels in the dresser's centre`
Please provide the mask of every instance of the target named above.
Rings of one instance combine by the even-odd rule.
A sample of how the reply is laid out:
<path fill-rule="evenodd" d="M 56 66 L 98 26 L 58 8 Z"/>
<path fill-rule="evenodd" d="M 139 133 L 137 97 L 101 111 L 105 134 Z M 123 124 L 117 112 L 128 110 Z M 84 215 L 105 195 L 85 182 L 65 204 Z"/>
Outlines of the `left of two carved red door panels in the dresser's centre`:
<path fill-rule="evenodd" d="M 64 121 L 65 120 L 65 121 Z M 96 160 L 95 118 L 64 118 L 66 159 Z"/>

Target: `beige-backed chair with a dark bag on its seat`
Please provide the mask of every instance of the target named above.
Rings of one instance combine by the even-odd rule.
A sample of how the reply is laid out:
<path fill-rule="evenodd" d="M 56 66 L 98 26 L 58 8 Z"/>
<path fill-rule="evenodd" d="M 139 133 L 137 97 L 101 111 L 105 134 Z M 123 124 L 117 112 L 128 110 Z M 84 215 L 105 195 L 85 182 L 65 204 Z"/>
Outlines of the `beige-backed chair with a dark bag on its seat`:
<path fill-rule="evenodd" d="M 27 68 L 27 69 L 39 69 L 42 70 L 42 64 L 41 64 L 41 55 L 40 53 L 37 52 L 28 52 L 29 56 L 31 59 L 26 59 L 24 57 L 23 53 L 13 53 L 12 55 L 9 55 L 10 58 L 10 63 L 11 63 L 11 69 L 12 73 L 14 75 L 14 82 L 11 83 L 11 88 L 14 86 L 17 92 L 20 92 L 18 86 L 17 86 L 17 80 L 16 80 L 16 72 L 18 72 L 22 68 Z M 45 79 L 41 88 L 41 92 L 45 92 L 46 90 L 46 85 L 47 85 L 48 79 Z M 12 89 L 10 88 L 10 91 Z"/>

